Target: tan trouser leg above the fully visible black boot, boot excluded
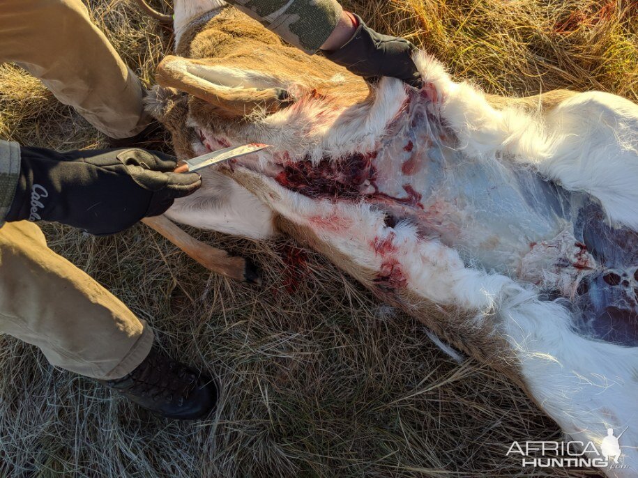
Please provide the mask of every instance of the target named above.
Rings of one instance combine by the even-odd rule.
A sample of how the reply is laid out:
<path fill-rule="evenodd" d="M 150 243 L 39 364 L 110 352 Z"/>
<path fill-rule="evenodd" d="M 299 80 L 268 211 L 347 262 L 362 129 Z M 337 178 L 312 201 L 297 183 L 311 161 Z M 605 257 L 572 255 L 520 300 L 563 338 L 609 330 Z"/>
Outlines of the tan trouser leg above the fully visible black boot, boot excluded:
<path fill-rule="evenodd" d="M 130 373 L 153 343 L 144 321 L 26 221 L 0 228 L 0 333 L 38 346 L 57 367 L 104 380 Z"/>

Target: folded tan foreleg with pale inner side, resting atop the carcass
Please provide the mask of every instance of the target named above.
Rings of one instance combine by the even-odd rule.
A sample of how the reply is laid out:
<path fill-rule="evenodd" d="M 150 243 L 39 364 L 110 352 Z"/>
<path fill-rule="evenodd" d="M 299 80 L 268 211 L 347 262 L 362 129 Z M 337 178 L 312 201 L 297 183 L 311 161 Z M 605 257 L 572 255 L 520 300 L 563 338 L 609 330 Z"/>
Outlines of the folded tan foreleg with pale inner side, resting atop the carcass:
<path fill-rule="evenodd" d="M 219 107 L 222 116 L 271 114 L 293 102 L 285 88 L 272 86 L 278 83 L 273 77 L 179 56 L 163 59 L 155 79 L 160 86 L 177 88 Z"/>

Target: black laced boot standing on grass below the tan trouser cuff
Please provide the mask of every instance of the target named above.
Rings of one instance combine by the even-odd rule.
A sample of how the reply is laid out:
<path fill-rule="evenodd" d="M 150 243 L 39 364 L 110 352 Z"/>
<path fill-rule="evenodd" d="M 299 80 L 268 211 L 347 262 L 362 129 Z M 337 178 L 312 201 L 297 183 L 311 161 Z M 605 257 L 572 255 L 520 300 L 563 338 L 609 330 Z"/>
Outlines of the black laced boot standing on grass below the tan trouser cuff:
<path fill-rule="evenodd" d="M 127 376 L 99 381 L 162 417 L 205 418 L 217 405 L 218 390 L 211 378 L 154 349 Z"/>

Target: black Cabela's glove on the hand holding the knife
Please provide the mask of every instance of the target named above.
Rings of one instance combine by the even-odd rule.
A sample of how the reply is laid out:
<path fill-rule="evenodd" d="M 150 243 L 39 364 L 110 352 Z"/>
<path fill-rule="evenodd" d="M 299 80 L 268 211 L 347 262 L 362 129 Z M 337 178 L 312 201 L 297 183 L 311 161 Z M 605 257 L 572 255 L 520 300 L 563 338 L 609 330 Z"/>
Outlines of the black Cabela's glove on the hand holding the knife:
<path fill-rule="evenodd" d="M 8 222 L 56 221 L 92 234 L 112 234 L 160 215 L 175 198 L 202 185 L 176 174 L 176 160 L 157 151 L 110 149 L 57 153 L 20 149 L 20 180 Z"/>

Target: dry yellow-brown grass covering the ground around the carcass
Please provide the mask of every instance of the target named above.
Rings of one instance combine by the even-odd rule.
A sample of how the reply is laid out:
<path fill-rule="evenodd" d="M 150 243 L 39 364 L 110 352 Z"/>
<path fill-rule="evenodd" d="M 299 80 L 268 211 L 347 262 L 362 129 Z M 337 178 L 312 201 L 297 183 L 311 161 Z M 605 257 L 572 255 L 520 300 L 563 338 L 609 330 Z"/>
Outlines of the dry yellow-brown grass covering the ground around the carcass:
<path fill-rule="evenodd" d="M 170 32 L 128 1 L 91 1 L 94 20 L 146 82 Z M 349 0 L 384 31 L 423 45 L 493 93 L 598 88 L 638 98 L 636 1 Z M 0 68 L 0 137 L 103 146 L 38 81 Z M 92 380 L 0 338 L 3 477 L 582 476 L 523 472 L 512 440 L 559 438 L 524 394 L 480 364 L 457 364 L 412 318 L 289 241 L 207 242 L 257 259 L 263 288 L 211 276 L 143 226 L 91 238 L 61 226 L 51 247 L 158 331 L 175 357 L 217 373 L 207 422 L 157 419 Z M 90 317 L 86 318 L 91 320 Z"/>

